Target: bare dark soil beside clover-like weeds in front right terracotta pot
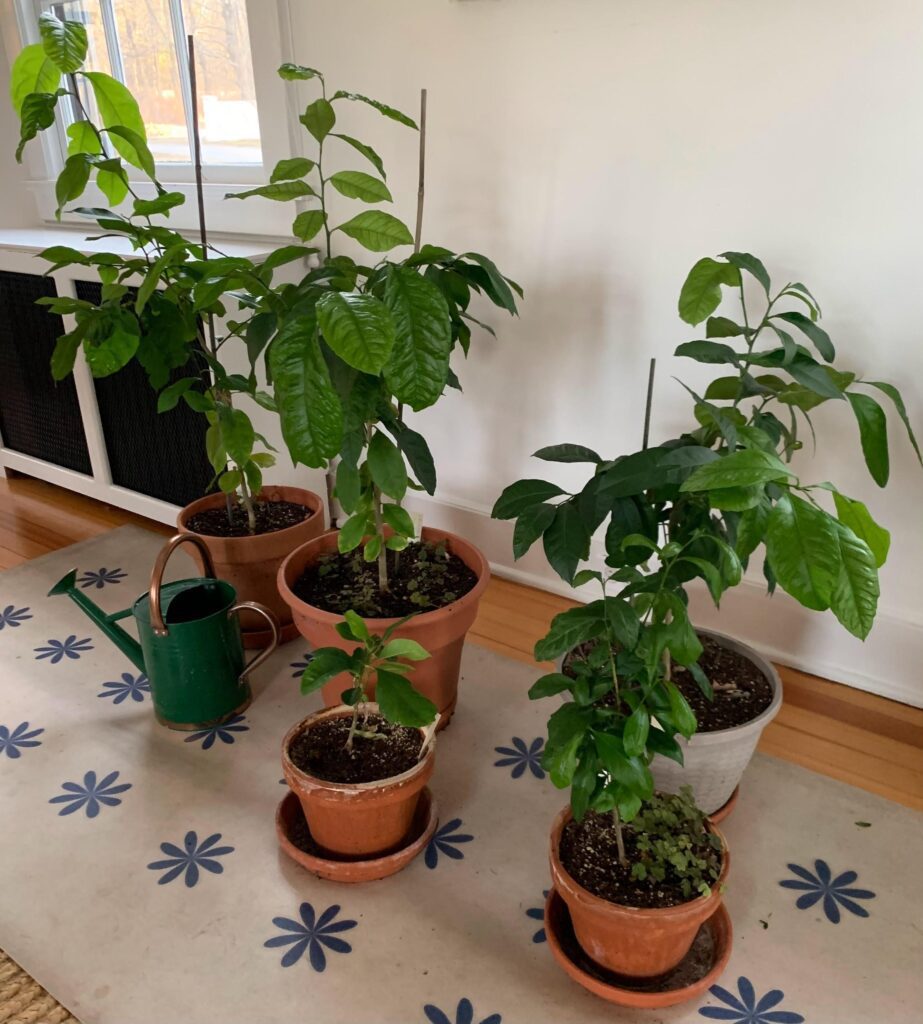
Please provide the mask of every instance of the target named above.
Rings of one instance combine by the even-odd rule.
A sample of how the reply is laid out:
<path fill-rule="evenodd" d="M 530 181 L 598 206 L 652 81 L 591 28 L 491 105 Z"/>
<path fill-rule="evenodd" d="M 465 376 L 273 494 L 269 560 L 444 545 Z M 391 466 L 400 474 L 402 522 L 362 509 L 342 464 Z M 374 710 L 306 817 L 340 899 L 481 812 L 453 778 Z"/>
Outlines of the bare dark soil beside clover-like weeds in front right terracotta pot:
<path fill-rule="evenodd" d="M 622 831 L 630 864 L 639 859 L 637 834 L 630 824 L 623 825 Z M 702 844 L 704 849 L 713 852 L 704 835 Z M 658 882 L 649 876 L 643 880 L 633 879 L 631 867 L 622 867 L 616 829 L 607 814 L 588 811 L 583 821 L 569 821 L 561 833 L 559 856 L 561 864 L 576 882 L 610 903 L 655 908 L 689 902 L 672 868 L 663 882 Z"/>

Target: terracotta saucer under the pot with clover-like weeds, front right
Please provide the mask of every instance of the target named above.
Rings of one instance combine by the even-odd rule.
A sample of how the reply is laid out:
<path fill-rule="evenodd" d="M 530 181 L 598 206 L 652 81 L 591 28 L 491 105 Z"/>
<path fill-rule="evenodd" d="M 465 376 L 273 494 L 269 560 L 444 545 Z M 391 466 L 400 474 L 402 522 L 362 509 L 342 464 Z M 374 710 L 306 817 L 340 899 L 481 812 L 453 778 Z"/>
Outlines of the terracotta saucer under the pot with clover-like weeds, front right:
<path fill-rule="evenodd" d="M 557 963 L 588 992 L 622 1007 L 660 1009 L 700 996 L 724 972 L 730 958 L 730 916 L 720 904 L 699 929 L 693 948 L 678 967 L 658 978 L 627 978 L 600 967 L 581 949 L 568 904 L 554 889 L 545 903 L 545 934 Z M 697 958 L 705 956 L 705 964 Z"/>

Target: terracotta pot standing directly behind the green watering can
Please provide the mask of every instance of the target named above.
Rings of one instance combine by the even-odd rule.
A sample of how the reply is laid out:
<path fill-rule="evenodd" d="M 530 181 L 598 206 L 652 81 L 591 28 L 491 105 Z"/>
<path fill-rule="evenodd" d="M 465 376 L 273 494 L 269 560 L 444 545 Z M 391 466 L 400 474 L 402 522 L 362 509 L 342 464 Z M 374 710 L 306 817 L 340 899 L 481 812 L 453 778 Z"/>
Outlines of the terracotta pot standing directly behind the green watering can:
<path fill-rule="evenodd" d="M 186 505 L 176 517 L 176 525 L 185 532 L 196 534 L 205 542 L 215 563 L 218 579 L 226 580 L 234 587 L 238 592 L 238 600 L 258 601 L 275 612 L 282 628 L 282 642 L 286 643 L 295 639 L 298 630 L 292 623 L 288 605 L 279 594 L 276 574 L 286 555 L 324 532 L 324 502 L 312 490 L 301 487 L 267 485 L 263 487 L 260 497 L 267 501 L 303 505 L 309 514 L 303 522 L 287 529 L 277 529 L 272 534 L 260 534 L 256 537 L 209 537 L 207 534 L 196 534 L 187 525 L 190 518 L 198 512 L 224 507 L 224 495 L 208 495 Z M 242 612 L 241 628 L 245 647 L 265 647 L 268 644 L 270 635 L 259 615 Z"/>

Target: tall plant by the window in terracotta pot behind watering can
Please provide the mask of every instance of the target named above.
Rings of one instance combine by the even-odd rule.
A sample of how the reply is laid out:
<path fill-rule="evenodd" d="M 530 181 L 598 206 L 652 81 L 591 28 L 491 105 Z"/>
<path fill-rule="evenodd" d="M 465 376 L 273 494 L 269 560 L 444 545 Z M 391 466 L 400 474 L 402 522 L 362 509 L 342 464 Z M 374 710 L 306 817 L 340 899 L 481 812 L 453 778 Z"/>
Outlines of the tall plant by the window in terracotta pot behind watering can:
<path fill-rule="evenodd" d="M 11 73 L 11 93 L 22 120 L 17 158 L 30 139 L 54 124 L 57 104 L 67 96 L 78 120 L 67 130 L 69 156 L 56 183 L 58 216 L 83 195 L 91 176 L 113 208 L 131 201 L 130 212 L 124 214 L 78 210 L 102 234 L 126 239 L 128 255 L 124 250 L 85 255 L 65 246 L 41 254 L 50 264 L 49 272 L 87 266 L 102 284 L 98 303 L 66 296 L 40 300 L 53 312 L 73 314 L 76 325 L 55 347 L 52 375 L 60 380 L 71 373 L 81 347 L 96 377 L 115 374 L 137 359 L 160 392 L 160 411 L 183 400 L 207 418 L 206 451 L 220 493 L 184 508 L 178 525 L 205 542 L 218 574 L 235 586 L 242 600 L 272 609 L 283 625 L 284 639 L 291 639 L 297 631 L 279 597 L 276 570 L 284 555 L 323 531 L 323 504 L 303 488 L 263 486 L 262 471 L 274 465 L 275 456 L 255 433 L 246 412 L 237 408 L 237 398 L 246 395 L 275 411 L 275 399 L 260 388 L 255 372 L 260 343 L 291 316 L 291 303 L 283 288 L 274 286 L 272 275 L 278 267 L 313 250 L 283 246 L 257 265 L 224 257 L 208 246 L 204 217 L 200 242 L 190 242 L 166 226 L 163 218 L 184 198 L 158 180 L 134 97 L 111 76 L 84 69 L 83 25 L 46 13 L 40 28 L 42 43 L 26 47 Z M 59 87 L 62 84 L 67 88 Z M 98 124 L 87 112 L 88 93 L 99 112 Z M 274 180 L 290 177 L 291 164 L 280 164 Z M 142 194 L 130 184 L 128 165 L 134 168 L 132 177 L 150 180 L 153 195 L 150 187 Z M 240 309 L 237 321 L 228 317 L 232 303 Z M 220 331 L 215 329 L 216 319 L 223 325 Z M 224 370 L 222 359 L 229 351 L 225 346 L 232 339 L 251 353 L 247 376 Z M 336 400 L 332 387 L 329 396 Z M 323 465 L 338 447 L 338 437 L 327 447 L 320 443 L 309 464 Z M 243 612 L 242 625 L 248 646 L 268 641 L 264 624 L 254 613 Z"/>

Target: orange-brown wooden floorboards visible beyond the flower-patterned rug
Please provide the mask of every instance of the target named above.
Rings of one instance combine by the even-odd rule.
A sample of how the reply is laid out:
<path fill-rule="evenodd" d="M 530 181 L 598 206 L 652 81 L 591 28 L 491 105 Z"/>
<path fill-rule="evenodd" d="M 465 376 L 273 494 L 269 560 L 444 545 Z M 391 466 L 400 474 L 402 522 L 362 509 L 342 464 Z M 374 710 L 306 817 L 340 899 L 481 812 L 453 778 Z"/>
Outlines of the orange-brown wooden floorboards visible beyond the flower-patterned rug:
<path fill-rule="evenodd" d="M 136 523 L 170 528 L 29 477 L 0 478 L 0 568 Z M 534 664 L 533 646 L 573 601 L 494 579 L 471 640 Z M 781 668 L 785 703 L 759 749 L 923 810 L 923 710 Z"/>

